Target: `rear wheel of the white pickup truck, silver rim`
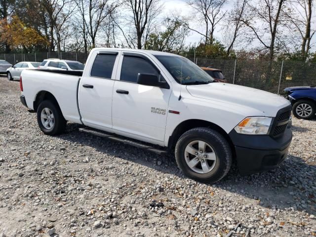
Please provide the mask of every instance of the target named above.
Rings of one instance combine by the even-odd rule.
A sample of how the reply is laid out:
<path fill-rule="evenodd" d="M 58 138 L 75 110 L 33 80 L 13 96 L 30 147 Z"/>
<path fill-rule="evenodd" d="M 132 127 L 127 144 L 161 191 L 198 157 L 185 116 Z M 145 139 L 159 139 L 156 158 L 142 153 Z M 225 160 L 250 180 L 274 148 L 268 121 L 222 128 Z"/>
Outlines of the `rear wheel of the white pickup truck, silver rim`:
<path fill-rule="evenodd" d="M 52 101 L 44 100 L 40 103 L 37 118 L 40 130 L 46 135 L 57 135 L 65 131 L 67 121 L 63 117 L 59 106 Z"/>

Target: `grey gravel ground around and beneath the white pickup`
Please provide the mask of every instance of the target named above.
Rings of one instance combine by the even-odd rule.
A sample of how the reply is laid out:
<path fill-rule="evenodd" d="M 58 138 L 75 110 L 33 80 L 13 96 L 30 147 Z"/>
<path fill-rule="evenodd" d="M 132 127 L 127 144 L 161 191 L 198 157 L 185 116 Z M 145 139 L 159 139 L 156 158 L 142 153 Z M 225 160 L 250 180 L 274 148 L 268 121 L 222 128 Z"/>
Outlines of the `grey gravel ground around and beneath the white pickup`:
<path fill-rule="evenodd" d="M 316 236 L 316 120 L 293 119 L 277 169 L 215 185 L 171 156 L 79 133 L 50 137 L 0 78 L 0 237 Z"/>

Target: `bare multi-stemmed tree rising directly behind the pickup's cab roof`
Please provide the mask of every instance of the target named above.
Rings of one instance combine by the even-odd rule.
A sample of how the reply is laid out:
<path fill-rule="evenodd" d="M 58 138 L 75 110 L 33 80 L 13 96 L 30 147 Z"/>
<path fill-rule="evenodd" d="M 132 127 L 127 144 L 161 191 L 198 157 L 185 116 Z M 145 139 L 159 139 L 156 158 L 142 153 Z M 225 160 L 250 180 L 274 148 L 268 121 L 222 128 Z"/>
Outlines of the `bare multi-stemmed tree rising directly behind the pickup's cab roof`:
<path fill-rule="evenodd" d="M 126 34 L 121 27 L 119 28 L 130 47 L 135 47 L 133 39 L 136 38 L 137 48 L 141 49 L 148 40 L 155 19 L 160 13 L 161 5 L 159 4 L 159 0 L 126 0 L 125 4 L 127 9 L 132 12 L 132 22 L 135 27 L 136 37 L 132 36 L 132 32 Z"/>

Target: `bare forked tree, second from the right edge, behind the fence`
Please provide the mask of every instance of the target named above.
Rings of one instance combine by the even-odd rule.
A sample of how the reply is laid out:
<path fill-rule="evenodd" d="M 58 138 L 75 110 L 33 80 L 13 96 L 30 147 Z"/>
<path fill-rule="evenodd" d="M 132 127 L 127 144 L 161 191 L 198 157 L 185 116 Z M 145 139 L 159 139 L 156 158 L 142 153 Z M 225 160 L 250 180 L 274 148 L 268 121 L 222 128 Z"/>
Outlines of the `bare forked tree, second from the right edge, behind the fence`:
<path fill-rule="evenodd" d="M 269 59 L 275 56 L 278 27 L 284 21 L 281 11 L 287 0 L 256 0 L 248 2 L 248 12 L 241 21 L 250 29 L 253 38 L 269 50 Z M 248 36 L 247 36 L 248 37 Z"/>

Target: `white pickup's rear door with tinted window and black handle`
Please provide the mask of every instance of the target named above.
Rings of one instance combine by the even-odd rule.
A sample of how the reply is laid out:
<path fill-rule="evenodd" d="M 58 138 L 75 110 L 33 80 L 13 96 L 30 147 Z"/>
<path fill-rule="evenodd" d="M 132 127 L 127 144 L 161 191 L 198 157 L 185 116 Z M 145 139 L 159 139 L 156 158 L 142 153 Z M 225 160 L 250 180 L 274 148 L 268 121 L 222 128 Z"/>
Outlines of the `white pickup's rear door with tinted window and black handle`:
<path fill-rule="evenodd" d="M 94 51 L 79 83 L 82 122 L 90 127 L 112 129 L 112 96 L 118 67 L 117 51 Z M 112 131 L 112 130 L 111 130 Z"/>

